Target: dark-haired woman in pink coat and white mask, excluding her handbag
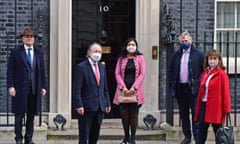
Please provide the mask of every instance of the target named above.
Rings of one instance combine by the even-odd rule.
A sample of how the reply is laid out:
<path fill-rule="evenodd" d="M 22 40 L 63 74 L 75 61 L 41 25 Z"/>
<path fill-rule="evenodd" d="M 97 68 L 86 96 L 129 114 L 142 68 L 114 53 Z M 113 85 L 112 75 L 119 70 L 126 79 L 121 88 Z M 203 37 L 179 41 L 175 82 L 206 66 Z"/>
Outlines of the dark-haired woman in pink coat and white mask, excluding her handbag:
<path fill-rule="evenodd" d="M 138 111 L 144 103 L 143 80 L 146 73 L 143 54 L 138 51 L 138 43 L 134 38 L 128 39 L 118 58 L 115 77 L 117 89 L 113 103 L 119 105 L 120 115 L 124 129 L 124 139 L 121 144 L 135 144 L 135 134 L 138 121 Z M 118 94 L 137 93 L 137 103 L 119 103 Z M 131 137 L 129 129 L 131 128 Z"/>

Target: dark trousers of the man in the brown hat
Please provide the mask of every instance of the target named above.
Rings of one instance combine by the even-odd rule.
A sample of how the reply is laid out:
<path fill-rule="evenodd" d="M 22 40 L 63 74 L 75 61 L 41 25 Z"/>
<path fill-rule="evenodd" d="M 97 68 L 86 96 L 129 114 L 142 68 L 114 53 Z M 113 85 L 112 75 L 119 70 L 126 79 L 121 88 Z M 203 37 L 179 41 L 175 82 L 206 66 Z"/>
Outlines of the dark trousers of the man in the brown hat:
<path fill-rule="evenodd" d="M 25 142 L 32 141 L 33 131 L 34 131 L 34 116 L 36 111 L 36 95 L 33 95 L 32 92 L 28 94 L 28 104 L 27 104 L 27 117 L 26 117 L 26 132 L 25 132 Z M 15 114 L 15 140 L 22 141 L 22 126 L 23 118 L 25 113 Z"/>

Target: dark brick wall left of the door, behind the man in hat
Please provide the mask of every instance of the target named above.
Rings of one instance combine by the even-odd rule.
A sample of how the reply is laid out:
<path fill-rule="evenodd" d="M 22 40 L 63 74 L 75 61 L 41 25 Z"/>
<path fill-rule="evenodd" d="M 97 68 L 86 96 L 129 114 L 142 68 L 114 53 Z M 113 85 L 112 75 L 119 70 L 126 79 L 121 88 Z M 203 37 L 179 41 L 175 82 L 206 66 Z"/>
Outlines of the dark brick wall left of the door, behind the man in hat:
<path fill-rule="evenodd" d="M 48 82 L 49 3 L 49 0 L 0 0 L 0 112 L 6 112 L 7 105 L 11 108 L 11 103 L 7 104 L 7 57 L 15 45 L 21 44 L 20 33 L 26 27 L 43 34 L 41 43 L 36 38 L 35 44 L 42 44 Z M 43 98 L 42 109 L 48 111 L 48 96 Z"/>

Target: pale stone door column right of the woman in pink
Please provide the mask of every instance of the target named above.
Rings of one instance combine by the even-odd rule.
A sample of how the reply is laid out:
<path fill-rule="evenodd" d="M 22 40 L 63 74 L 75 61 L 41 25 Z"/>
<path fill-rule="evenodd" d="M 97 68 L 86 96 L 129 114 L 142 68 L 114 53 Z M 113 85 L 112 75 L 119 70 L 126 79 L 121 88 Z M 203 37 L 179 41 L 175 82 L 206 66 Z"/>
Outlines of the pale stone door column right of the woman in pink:
<path fill-rule="evenodd" d="M 159 111 L 159 59 L 152 59 L 152 47 L 159 51 L 159 0 L 136 0 L 136 38 L 146 60 L 147 74 L 144 80 L 145 104 L 140 108 L 139 126 L 145 126 L 143 118 L 151 114 L 160 123 Z M 158 56 L 159 57 L 159 56 Z"/>

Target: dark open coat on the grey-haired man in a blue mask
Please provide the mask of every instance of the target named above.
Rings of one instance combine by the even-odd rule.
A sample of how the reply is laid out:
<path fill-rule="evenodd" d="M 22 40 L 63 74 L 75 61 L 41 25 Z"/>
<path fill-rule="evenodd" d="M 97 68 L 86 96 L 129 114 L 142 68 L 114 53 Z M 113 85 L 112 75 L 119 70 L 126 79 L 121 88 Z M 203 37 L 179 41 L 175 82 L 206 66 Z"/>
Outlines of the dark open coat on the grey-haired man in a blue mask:
<path fill-rule="evenodd" d="M 173 53 L 169 66 L 167 79 L 169 86 L 172 90 L 172 95 L 178 97 L 177 83 L 179 83 L 180 64 L 182 57 L 182 49 Z M 189 85 L 191 87 L 192 94 L 197 96 L 200 76 L 203 72 L 204 53 L 197 48 L 192 47 L 189 55 L 188 72 L 189 72 Z"/>

